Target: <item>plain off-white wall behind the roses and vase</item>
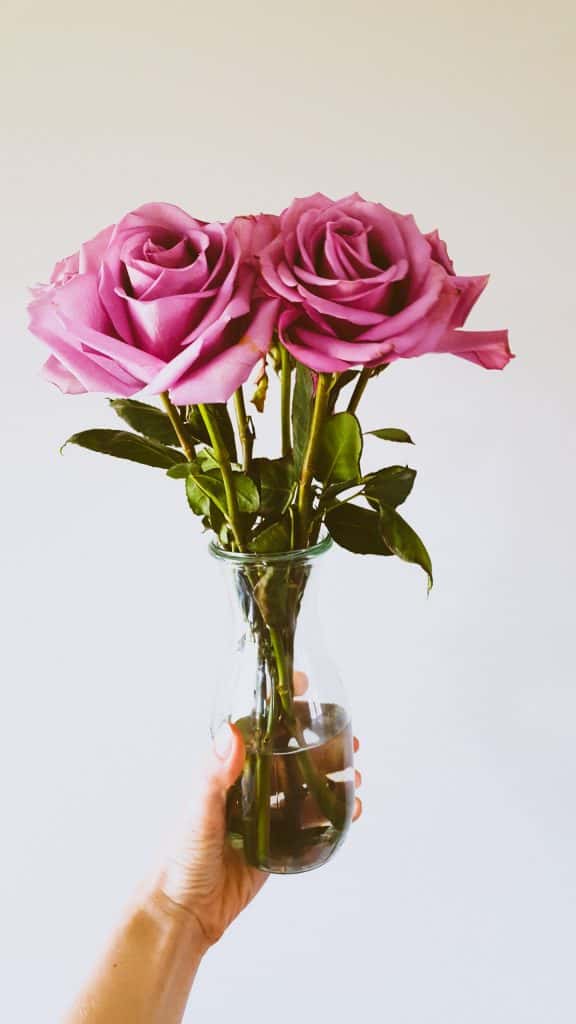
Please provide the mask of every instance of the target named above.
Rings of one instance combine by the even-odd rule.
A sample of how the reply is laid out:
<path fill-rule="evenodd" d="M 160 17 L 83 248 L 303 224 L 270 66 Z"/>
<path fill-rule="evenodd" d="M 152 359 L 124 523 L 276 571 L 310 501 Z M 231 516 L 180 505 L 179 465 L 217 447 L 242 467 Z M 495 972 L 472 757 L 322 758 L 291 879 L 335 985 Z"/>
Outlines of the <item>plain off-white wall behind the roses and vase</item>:
<path fill-rule="evenodd" d="M 112 423 L 39 378 L 25 289 L 126 210 L 280 211 L 359 189 L 492 271 L 488 373 L 397 365 L 437 587 L 336 552 L 323 617 L 363 820 L 275 879 L 187 1020 L 569 1024 L 574 991 L 574 13 L 560 0 L 13 3 L 2 39 L 2 983 L 57 1019 L 177 818 L 222 591 L 178 484 L 68 450 Z M 266 435 L 272 439 L 272 428 Z M 376 443 L 376 442 L 374 442 Z M 373 450 L 374 451 L 374 450 Z M 403 459 L 405 450 L 389 450 Z M 380 447 L 377 455 L 382 455 Z M 375 456 L 376 458 L 376 456 Z"/>

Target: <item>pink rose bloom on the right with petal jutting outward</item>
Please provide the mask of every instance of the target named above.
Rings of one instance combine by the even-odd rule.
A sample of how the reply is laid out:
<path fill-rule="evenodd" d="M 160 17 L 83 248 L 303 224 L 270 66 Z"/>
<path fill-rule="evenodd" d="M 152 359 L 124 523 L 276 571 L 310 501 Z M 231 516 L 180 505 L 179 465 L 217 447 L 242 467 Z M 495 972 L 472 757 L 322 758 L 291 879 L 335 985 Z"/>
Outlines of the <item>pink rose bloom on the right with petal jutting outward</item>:
<path fill-rule="evenodd" d="M 318 372 L 452 352 L 489 370 L 511 358 L 506 331 L 460 331 L 488 278 L 454 273 L 438 232 L 358 194 L 294 200 L 260 257 L 284 309 L 279 332 Z"/>

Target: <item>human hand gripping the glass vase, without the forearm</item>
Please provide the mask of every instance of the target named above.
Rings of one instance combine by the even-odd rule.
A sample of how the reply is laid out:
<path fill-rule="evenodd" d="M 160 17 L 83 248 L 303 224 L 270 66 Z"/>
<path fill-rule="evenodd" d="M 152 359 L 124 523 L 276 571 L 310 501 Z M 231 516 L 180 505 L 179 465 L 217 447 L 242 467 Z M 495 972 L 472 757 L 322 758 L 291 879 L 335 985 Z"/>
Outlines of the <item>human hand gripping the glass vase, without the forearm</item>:
<path fill-rule="evenodd" d="M 358 749 L 355 737 L 355 752 Z M 268 879 L 264 871 L 247 864 L 225 837 L 227 793 L 242 771 L 244 756 L 239 729 L 222 725 L 181 837 L 160 879 L 162 893 L 195 919 L 207 946 L 220 938 Z M 356 788 L 361 782 L 360 772 L 355 771 Z M 356 797 L 353 820 L 361 813 L 362 803 Z"/>

